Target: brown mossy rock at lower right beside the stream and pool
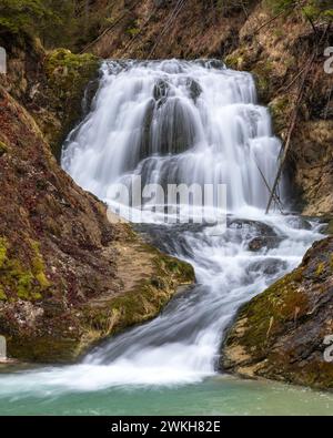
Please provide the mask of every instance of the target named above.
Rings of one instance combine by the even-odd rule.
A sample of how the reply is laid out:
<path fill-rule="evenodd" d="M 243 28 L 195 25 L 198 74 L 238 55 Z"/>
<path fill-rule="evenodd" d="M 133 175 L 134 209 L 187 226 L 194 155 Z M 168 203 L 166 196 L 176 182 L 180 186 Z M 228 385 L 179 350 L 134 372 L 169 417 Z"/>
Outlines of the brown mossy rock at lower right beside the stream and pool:
<path fill-rule="evenodd" d="M 333 389 L 333 237 L 317 242 L 300 267 L 239 312 L 221 367 Z M 331 348 L 331 349 L 330 349 Z"/>

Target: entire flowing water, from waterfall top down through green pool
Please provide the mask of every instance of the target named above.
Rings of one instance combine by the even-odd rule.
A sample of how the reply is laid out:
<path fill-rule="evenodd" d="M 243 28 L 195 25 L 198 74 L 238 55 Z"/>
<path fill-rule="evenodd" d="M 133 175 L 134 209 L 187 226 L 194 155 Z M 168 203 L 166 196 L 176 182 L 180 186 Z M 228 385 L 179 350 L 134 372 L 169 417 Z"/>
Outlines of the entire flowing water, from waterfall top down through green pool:
<path fill-rule="evenodd" d="M 172 223 L 168 214 L 182 217 L 184 205 L 165 213 L 145 200 L 144 223 L 135 226 L 191 263 L 196 284 L 81 364 L 3 370 L 0 412 L 332 414 L 332 395 L 218 374 L 223 333 L 240 305 L 321 238 L 315 221 L 279 210 L 264 215 L 280 149 L 249 73 L 218 61 L 104 62 L 91 111 L 65 142 L 63 169 L 112 208 L 123 202 L 113 187 L 129 187 L 133 176 L 163 189 L 225 184 L 225 227 L 193 220 L 195 202 L 190 223 Z M 284 205 L 286 193 L 282 181 Z M 221 213 L 216 196 L 204 208 Z"/>

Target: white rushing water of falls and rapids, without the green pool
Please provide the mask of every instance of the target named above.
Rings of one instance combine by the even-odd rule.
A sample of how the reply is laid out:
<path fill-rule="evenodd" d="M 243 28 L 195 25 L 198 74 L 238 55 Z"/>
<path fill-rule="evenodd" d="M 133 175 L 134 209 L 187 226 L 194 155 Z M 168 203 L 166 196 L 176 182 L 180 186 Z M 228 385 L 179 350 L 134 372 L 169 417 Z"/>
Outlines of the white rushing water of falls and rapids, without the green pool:
<path fill-rule="evenodd" d="M 179 385 L 215 374 L 223 330 L 239 306 L 294 268 L 321 237 L 315 223 L 264 216 L 269 192 L 259 167 L 272 185 L 279 150 L 248 73 L 209 62 L 104 63 L 92 112 L 70 135 L 63 167 L 102 200 L 132 174 L 163 185 L 225 183 L 228 228 L 145 226 L 154 244 L 194 266 L 192 291 L 82 364 L 0 377 L 0 396 Z M 262 235 L 268 247 L 251 252 L 249 243 Z"/>

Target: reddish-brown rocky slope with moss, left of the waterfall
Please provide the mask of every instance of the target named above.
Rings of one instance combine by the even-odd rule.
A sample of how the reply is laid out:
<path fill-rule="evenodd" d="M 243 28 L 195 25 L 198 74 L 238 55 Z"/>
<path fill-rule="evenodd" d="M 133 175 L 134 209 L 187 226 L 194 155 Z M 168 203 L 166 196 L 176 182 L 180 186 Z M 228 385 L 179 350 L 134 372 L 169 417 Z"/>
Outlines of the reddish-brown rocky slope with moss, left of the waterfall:
<path fill-rule="evenodd" d="M 127 224 L 111 225 L 107 207 L 57 164 L 40 130 L 56 101 L 50 113 L 47 103 L 31 105 L 41 104 L 54 80 L 57 114 L 65 113 L 73 71 L 57 65 L 68 58 L 80 71 L 82 58 L 67 51 L 39 65 L 50 78 L 46 89 L 36 82 L 41 73 L 29 75 L 30 85 L 18 80 L 22 92 L 10 74 L 1 82 L 11 94 L 0 84 L 0 334 L 9 357 L 39 363 L 77 359 L 99 339 L 155 316 L 178 286 L 194 281 L 191 266 L 154 249 Z M 40 92 L 28 99 L 33 83 Z"/>

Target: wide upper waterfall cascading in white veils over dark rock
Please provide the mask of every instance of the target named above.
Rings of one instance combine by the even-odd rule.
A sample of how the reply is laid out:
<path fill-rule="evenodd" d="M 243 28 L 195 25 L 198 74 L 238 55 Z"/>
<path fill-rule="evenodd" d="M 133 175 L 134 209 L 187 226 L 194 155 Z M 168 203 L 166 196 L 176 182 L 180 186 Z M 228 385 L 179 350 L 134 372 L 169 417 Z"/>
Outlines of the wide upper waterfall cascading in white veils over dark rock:
<path fill-rule="evenodd" d="M 251 74 L 218 61 L 110 61 L 62 165 L 105 201 L 110 185 L 140 175 L 143 185 L 225 184 L 236 211 L 266 206 L 279 150 Z"/>

